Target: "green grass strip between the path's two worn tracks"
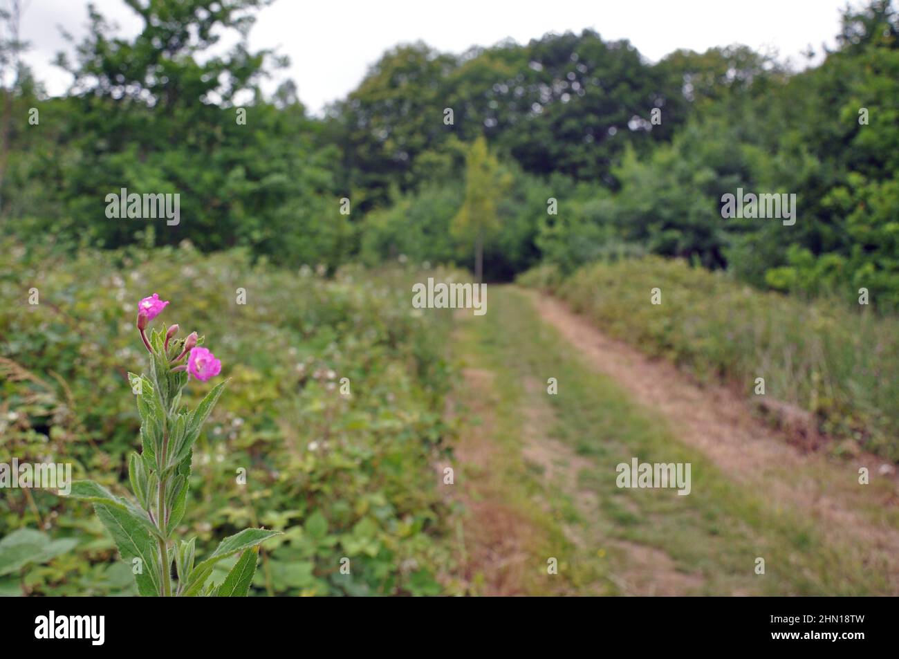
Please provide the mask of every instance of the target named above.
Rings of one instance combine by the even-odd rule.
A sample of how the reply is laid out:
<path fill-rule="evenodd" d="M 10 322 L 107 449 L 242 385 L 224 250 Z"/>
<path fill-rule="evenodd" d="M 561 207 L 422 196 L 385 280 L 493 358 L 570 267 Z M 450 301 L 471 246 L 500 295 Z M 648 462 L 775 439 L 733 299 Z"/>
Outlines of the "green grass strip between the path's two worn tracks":
<path fill-rule="evenodd" d="M 832 546 L 826 534 L 797 512 L 772 510 L 764 492 L 735 485 L 708 459 L 684 446 L 653 411 L 632 402 L 616 383 L 585 367 L 580 355 L 554 328 L 539 320 L 519 290 L 491 287 L 485 316 L 467 322 L 461 350 L 479 368 L 494 370 L 499 405 L 494 441 L 503 449 L 512 501 L 527 507 L 528 491 L 549 498 L 550 530 L 561 537 L 567 520 L 585 530 L 589 542 L 571 552 L 572 583 L 605 582 L 628 570 L 628 552 L 616 540 L 663 551 L 675 569 L 701 576 L 702 594 L 841 594 L 887 592 L 876 573 Z M 557 378 L 559 393 L 546 393 L 547 378 Z M 542 383 L 536 393 L 522 385 Z M 524 414 L 545 396 L 555 410 L 550 433 L 583 459 L 577 489 L 598 502 L 592 515 L 571 503 L 570 488 L 539 485 L 539 473 L 522 471 Z M 627 490 L 616 485 L 615 467 L 632 457 L 645 462 L 690 462 L 692 493 L 673 490 Z M 517 489 L 516 489 L 517 484 Z M 535 507 L 530 503 L 531 507 Z M 602 556 L 600 556 L 602 555 Z M 754 574 L 763 557 L 766 574 Z M 616 592 L 613 586 L 609 592 Z"/>

